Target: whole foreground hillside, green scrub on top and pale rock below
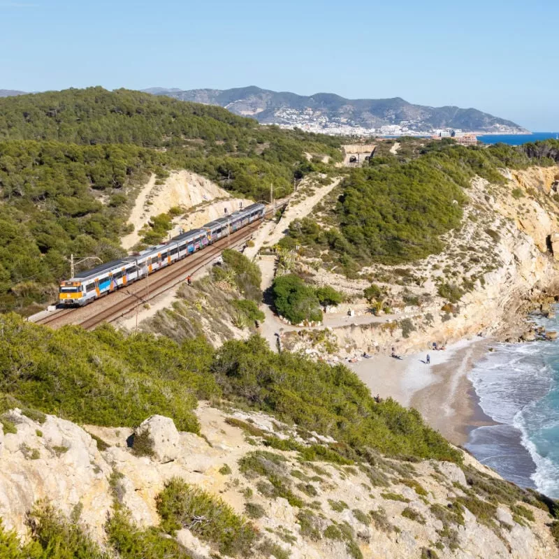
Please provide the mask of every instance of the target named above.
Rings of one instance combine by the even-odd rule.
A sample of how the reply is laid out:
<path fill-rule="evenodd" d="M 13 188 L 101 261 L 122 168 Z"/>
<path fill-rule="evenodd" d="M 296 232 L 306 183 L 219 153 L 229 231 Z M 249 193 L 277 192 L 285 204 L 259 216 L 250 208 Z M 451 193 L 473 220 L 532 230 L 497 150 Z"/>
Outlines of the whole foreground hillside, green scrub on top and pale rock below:
<path fill-rule="evenodd" d="M 553 501 L 376 402 L 343 365 L 259 337 L 216 351 L 1 326 L 9 559 L 559 557 Z"/>

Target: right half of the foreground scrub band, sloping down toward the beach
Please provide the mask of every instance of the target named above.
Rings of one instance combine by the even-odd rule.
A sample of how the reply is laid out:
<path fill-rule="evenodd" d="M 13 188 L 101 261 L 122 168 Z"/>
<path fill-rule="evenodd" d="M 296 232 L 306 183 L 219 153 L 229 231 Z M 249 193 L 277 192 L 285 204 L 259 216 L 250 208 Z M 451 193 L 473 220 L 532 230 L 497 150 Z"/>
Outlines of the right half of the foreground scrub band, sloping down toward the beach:
<path fill-rule="evenodd" d="M 224 398 L 303 430 L 331 435 L 338 444 L 330 451 L 345 463 L 364 456 L 365 449 L 461 461 L 460 453 L 428 428 L 416 410 L 404 409 L 390 398 L 375 402 L 368 387 L 344 365 L 332 367 L 287 351 L 277 354 L 253 336 L 246 342 L 226 342 L 217 351 L 212 372 Z M 324 445 L 311 449 L 317 456 L 327 452 Z"/>

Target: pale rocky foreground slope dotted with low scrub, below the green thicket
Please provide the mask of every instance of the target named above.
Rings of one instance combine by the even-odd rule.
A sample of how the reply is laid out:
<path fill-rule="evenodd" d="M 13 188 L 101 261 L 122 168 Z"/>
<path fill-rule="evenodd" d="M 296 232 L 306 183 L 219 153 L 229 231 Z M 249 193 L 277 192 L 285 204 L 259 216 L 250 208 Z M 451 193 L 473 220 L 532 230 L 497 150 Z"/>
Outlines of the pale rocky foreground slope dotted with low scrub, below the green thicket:
<path fill-rule="evenodd" d="M 138 529 L 157 527 L 158 495 L 181 479 L 249 518 L 255 557 L 559 558 L 541 503 L 467 454 L 463 467 L 378 455 L 331 462 L 305 449 L 333 440 L 261 413 L 202 405 L 198 418 L 201 436 L 178 433 L 162 416 L 132 433 L 14 409 L 0 430 L 4 528 L 28 538 L 28 512 L 42 501 L 106 546 L 115 507 L 128 509 Z M 291 449 L 280 449 L 288 441 Z M 191 558 L 217 556 L 205 523 L 208 509 L 173 532 Z"/>

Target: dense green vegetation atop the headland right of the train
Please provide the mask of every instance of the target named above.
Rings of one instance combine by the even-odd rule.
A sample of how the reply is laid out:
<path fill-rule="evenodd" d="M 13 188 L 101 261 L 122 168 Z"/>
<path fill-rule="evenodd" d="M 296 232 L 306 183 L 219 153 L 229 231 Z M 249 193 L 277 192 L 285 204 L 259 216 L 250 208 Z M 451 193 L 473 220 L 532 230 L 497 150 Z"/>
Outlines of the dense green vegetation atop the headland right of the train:
<path fill-rule="evenodd" d="M 552 164 L 551 156 L 558 153 L 553 142 L 484 148 L 402 140 L 398 154 L 380 150 L 368 168 L 351 171 L 331 216 L 332 227 L 321 227 L 312 219 L 293 222 L 280 245 L 289 249 L 302 245 L 315 256 L 327 250 L 330 254 L 323 254 L 323 259 L 347 273 L 375 262 L 425 258 L 440 252 L 440 235 L 460 224 L 472 177 L 499 183 L 504 182 L 499 168 Z"/>

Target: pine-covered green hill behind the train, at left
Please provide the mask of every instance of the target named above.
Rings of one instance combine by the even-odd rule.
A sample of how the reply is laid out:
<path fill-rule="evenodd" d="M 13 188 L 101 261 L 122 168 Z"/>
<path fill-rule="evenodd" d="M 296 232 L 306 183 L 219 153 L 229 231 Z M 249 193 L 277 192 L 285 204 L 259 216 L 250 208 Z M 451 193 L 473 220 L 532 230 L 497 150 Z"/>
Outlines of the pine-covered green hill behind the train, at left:
<path fill-rule="evenodd" d="M 187 168 L 268 199 L 270 184 L 283 196 L 294 177 L 312 170 L 305 152 L 340 159 L 338 145 L 221 108 L 126 90 L 0 99 L 0 310 L 52 300 L 70 254 L 103 261 L 122 254 L 119 236 L 149 173 L 163 180 Z M 157 226 L 147 240 L 165 233 L 164 223 Z"/>

